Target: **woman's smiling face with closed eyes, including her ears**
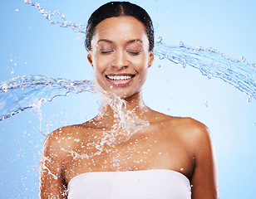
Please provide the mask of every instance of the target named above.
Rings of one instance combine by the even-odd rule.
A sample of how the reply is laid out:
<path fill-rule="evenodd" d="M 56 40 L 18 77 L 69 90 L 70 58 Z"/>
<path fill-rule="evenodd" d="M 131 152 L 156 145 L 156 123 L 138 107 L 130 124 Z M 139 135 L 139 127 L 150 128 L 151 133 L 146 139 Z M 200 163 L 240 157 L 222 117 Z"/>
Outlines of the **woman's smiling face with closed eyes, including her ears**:
<path fill-rule="evenodd" d="M 96 26 L 88 61 L 104 90 L 121 99 L 140 92 L 153 60 L 145 27 L 135 17 L 106 18 Z"/>

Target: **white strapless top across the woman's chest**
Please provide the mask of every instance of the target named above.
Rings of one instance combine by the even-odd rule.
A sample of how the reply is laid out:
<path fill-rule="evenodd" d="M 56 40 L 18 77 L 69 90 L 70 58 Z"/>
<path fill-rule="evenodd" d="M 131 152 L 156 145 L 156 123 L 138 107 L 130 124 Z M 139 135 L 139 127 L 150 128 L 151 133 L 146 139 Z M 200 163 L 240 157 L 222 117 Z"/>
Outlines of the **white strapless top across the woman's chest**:
<path fill-rule="evenodd" d="M 85 172 L 67 186 L 68 199 L 191 199 L 190 181 L 167 169 Z"/>

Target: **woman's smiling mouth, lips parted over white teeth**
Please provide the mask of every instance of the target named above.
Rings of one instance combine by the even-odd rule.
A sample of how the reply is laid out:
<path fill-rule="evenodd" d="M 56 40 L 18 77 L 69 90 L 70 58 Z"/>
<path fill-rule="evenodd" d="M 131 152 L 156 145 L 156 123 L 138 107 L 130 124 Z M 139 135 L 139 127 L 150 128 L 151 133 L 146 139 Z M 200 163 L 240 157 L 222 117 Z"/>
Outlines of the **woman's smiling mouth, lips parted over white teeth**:
<path fill-rule="evenodd" d="M 130 82 L 134 77 L 135 75 L 130 75 L 130 74 L 106 75 L 106 79 L 111 83 L 111 85 L 116 85 L 116 86 L 130 85 Z"/>

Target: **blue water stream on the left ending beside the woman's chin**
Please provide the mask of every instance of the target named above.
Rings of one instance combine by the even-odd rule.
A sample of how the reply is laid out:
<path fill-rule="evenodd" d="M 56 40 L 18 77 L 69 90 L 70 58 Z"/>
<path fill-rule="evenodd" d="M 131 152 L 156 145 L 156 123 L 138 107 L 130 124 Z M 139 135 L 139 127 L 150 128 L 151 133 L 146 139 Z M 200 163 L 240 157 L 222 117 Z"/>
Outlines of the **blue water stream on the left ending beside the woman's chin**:
<path fill-rule="evenodd" d="M 0 121 L 28 108 L 38 108 L 42 102 L 52 101 L 68 93 L 93 91 L 86 80 L 66 80 L 45 75 L 26 75 L 0 83 Z"/>

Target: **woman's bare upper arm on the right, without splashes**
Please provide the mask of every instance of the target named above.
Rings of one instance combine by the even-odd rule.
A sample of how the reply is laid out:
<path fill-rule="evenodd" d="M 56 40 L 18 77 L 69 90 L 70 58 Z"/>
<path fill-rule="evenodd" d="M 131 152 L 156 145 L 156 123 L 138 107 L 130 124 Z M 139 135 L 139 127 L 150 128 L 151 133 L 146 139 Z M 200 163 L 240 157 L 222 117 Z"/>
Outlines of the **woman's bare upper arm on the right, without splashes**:
<path fill-rule="evenodd" d="M 194 172 L 191 177 L 192 199 L 219 198 L 218 172 L 209 129 L 197 123 L 194 129 Z"/>

